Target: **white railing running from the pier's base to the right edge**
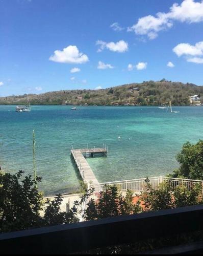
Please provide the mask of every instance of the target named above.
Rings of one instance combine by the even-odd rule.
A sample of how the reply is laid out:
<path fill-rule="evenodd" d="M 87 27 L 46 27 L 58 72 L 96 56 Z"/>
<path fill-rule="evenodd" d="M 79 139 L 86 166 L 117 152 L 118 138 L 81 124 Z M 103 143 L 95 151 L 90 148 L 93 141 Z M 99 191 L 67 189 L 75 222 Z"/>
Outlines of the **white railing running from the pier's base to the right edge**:
<path fill-rule="evenodd" d="M 103 190 L 105 185 L 117 185 L 120 190 L 126 191 L 127 189 L 141 192 L 146 189 L 146 178 L 141 178 L 141 179 L 134 179 L 134 180 L 123 180 L 123 181 L 114 181 L 114 182 L 105 182 L 105 183 L 99 183 L 94 185 L 95 192 L 99 192 Z M 174 188 L 177 185 L 185 185 L 189 190 L 192 190 L 195 184 L 201 184 L 202 186 L 202 192 L 203 192 L 203 181 L 202 180 L 189 180 L 189 179 L 179 179 L 179 178 L 169 178 L 169 177 L 151 177 L 148 178 L 151 188 L 157 189 L 159 184 L 162 183 L 163 181 L 169 182 L 171 186 Z"/>

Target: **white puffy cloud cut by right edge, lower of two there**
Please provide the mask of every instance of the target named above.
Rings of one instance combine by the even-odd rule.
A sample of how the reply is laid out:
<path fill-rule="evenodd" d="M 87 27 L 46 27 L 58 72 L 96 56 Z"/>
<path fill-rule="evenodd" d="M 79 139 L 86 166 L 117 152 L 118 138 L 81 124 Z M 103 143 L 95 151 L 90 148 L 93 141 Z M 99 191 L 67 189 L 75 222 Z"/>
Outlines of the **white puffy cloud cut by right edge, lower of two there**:
<path fill-rule="evenodd" d="M 179 44 L 173 48 L 173 52 L 179 57 L 182 55 L 203 55 L 203 41 L 197 42 L 194 46 L 185 43 Z"/>

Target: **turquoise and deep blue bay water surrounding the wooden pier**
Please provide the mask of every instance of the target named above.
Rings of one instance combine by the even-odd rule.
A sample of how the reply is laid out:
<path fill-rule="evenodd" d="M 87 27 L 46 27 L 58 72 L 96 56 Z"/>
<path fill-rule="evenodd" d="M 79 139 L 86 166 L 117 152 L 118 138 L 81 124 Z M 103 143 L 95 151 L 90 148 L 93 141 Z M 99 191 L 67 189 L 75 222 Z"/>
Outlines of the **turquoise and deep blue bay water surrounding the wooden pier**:
<path fill-rule="evenodd" d="M 36 134 L 37 175 L 45 195 L 79 187 L 70 148 L 108 145 L 108 157 L 89 158 L 99 182 L 159 176 L 178 166 L 175 155 L 187 140 L 203 139 L 203 107 L 173 107 L 166 113 L 145 106 L 32 106 L 17 113 L 0 106 L 1 165 L 33 173 L 32 131 Z M 120 137 L 120 138 L 118 138 Z"/>

